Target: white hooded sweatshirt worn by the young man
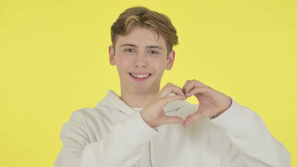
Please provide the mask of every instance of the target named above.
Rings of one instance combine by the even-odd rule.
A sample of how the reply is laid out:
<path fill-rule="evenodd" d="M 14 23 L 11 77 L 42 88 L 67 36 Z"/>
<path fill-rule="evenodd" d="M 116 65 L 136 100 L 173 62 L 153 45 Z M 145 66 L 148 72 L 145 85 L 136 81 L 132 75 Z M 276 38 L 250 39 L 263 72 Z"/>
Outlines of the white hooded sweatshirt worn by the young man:
<path fill-rule="evenodd" d="M 175 101 L 164 111 L 185 119 L 197 109 L 198 105 Z M 212 120 L 200 119 L 188 128 L 168 124 L 153 129 L 109 91 L 94 109 L 73 112 L 60 138 L 63 148 L 55 167 L 290 166 L 289 152 L 261 118 L 234 100 Z"/>

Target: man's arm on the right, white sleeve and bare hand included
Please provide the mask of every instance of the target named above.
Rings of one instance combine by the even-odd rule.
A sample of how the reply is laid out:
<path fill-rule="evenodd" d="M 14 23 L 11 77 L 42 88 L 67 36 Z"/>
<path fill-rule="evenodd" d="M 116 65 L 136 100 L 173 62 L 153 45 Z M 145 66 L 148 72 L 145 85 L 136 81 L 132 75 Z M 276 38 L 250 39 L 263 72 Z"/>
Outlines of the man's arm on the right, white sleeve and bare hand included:
<path fill-rule="evenodd" d="M 256 113 L 197 80 L 188 80 L 183 92 L 199 101 L 197 112 L 186 118 L 185 127 L 208 117 L 221 129 L 216 131 L 221 166 L 290 166 L 289 153 Z"/>

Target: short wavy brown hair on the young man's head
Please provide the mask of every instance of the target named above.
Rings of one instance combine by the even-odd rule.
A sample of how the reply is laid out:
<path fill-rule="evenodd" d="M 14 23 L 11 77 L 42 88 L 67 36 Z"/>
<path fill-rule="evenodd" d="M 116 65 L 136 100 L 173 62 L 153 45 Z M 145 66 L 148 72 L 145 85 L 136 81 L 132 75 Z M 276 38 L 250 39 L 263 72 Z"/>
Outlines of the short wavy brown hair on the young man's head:
<path fill-rule="evenodd" d="M 126 9 L 111 26 L 111 41 L 115 45 L 118 35 L 127 35 L 135 26 L 153 29 L 162 35 L 167 42 L 168 53 L 173 45 L 178 44 L 176 29 L 170 19 L 164 14 L 151 11 L 145 7 L 132 7 Z"/>

